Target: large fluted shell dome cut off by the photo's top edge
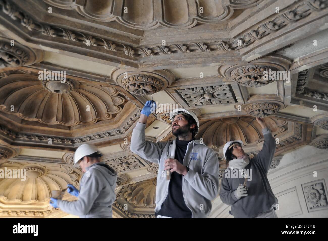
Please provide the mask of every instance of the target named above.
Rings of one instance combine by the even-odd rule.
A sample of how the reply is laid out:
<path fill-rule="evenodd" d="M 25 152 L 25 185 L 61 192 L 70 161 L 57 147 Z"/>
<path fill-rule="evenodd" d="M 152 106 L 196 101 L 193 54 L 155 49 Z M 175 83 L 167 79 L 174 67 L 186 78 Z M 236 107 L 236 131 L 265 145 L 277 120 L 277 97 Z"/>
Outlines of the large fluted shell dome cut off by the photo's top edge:
<path fill-rule="evenodd" d="M 43 0 L 61 9 L 75 9 L 82 16 L 100 22 L 116 21 L 133 29 L 159 26 L 188 29 L 200 23 L 228 20 L 234 9 L 251 8 L 263 0 Z M 202 8 L 202 9 L 201 9 Z"/>

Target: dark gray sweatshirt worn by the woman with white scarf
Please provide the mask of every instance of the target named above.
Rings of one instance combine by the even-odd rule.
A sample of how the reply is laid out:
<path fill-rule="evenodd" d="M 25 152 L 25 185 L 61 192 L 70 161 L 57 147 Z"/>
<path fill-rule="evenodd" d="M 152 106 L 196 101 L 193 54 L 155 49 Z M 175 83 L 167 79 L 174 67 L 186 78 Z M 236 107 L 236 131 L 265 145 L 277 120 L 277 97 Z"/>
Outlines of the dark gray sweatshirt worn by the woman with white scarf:
<path fill-rule="evenodd" d="M 269 211 L 278 203 L 267 178 L 276 150 L 275 138 L 268 128 L 263 129 L 262 132 L 263 148 L 245 167 L 247 173 L 252 173 L 251 178 L 248 178 L 246 182 L 248 196 L 238 199 L 234 194 L 239 184 L 244 183 L 244 178 L 232 178 L 234 175 L 231 169 L 227 169 L 222 175 L 220 199 L 223 203 L 231 205 L 231 214 L 235 218 L 253 218 Z"/>

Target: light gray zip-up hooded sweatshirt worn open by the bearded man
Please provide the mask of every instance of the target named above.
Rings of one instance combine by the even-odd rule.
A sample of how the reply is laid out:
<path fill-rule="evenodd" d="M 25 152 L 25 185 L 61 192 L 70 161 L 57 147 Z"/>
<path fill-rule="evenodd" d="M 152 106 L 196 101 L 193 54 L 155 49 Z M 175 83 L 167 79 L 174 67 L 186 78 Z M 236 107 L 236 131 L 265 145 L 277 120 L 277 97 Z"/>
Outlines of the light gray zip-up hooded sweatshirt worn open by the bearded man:
<path fill-rule="evenodd" d="M 166 180 L 164 161 L 175 154 L 175 140 L 169 151 L 170 141 L 151 142 L 145 140 L 146 124 L 137 123 L 132 132 L 131 151 L 147 161 L 158 163 L 156 208 L 158 212 L 164 202 L 169 182 Z M 169 154 L 170 152 L 170 154 Z M 219 161 L 215 152 L 201 144 L 200 140 L 188 143 L 183 165 L 189 167 L 188 173 L 182 175 L 182 193 L 192 218 L 206 218 L 211 210 L 211 200 L 215 199 L 219 187 Z"/>

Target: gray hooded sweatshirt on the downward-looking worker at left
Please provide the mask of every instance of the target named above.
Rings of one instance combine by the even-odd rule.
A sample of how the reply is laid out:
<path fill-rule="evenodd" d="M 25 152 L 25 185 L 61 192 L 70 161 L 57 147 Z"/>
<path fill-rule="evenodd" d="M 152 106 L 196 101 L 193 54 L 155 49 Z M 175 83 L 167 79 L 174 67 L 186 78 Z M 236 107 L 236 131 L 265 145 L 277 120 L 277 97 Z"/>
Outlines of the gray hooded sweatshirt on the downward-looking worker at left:
<path fill-rule="evenodd" d="M 80 218 L 112 218 L 117 174 L 108 165 L 102 165 L 106 165 L 105 162 L 87 167 L 80 181 L 78 200 L 58 200 L 58 208 Z"/>

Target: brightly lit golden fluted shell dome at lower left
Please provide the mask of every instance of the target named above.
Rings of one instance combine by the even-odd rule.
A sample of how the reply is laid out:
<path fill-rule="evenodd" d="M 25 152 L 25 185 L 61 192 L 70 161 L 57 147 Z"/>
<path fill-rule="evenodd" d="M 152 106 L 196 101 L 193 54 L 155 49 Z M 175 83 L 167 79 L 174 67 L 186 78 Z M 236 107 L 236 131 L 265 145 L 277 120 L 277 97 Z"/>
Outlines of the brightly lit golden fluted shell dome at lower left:
<path fill-rule="evenodd" d="M 63 190 L 69 183 L 77 186 L 80 177 L 80 173 L 68 165 L 57 163 L 6 161 L 0 169 L 4 173 L 5 170 L 26 170 L 25 181 L 21 178 L 0 179 L 0 196 L 4 196 L 6 201 L 22 203 L 44 202 L 51 197 L 52 190 Z"/>

